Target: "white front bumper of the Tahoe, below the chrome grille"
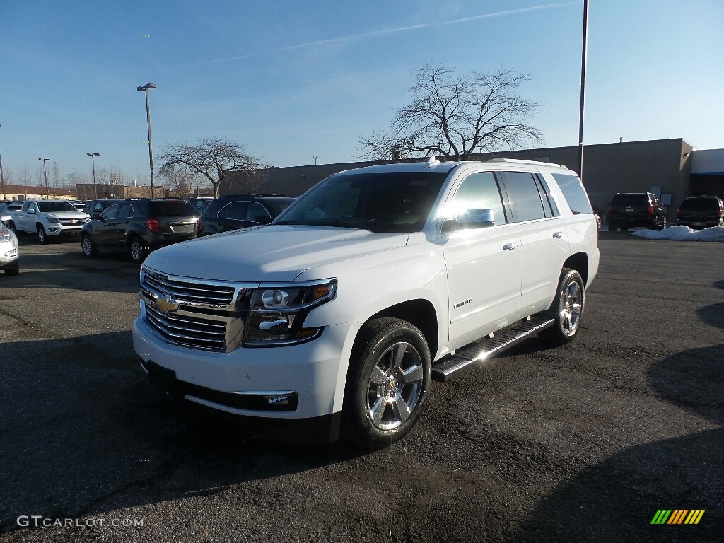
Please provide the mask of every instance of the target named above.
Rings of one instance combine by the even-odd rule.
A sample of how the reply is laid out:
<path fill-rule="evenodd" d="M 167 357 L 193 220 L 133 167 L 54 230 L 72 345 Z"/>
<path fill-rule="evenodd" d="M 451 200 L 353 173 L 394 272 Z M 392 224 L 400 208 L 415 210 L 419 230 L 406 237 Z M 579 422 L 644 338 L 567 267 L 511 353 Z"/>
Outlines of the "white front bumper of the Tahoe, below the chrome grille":
<path fill-rule="evenodd" d="M 347 373 L 342 353 L 348 351 L 351 327 L 326 327 L 319 338 L 300 345 L 219 353 L 171 345 L 138 316 L 133 348 L 144 370 L 164 374 L 169 386 L 161 388 L 176 397 L 258 419 L 261 426 L 272 419 L 284 419 L 290 428 L 327 421 L 337 426 L 324 439 L 329 441 L 338 432 Z"/>

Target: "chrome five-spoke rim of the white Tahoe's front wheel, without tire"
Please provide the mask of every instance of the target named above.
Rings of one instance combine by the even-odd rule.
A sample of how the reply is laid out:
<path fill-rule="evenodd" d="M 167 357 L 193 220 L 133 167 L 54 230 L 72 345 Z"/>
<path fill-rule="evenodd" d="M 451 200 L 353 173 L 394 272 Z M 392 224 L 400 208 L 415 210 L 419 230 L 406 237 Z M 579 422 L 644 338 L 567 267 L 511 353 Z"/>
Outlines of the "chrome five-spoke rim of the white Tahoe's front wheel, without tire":
<path fill-rule="evenodd" d="M 398 342 L 382 353 L 369 379 L 369 418 L 380 430 L 392 430 L 410 418 L 417 407 L 424 370 L 418 350 Z"/>

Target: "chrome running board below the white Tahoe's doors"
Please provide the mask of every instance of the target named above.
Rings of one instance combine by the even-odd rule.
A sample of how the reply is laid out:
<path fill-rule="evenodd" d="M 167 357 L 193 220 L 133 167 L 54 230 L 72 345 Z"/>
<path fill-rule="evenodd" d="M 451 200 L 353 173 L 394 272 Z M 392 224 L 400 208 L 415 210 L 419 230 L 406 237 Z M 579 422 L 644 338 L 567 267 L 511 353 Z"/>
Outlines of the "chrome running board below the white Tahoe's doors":
<path fill-rule="evenodd" d="M 528 320 L 516 324 L 515 327 L 505 330 L 505 332 L 494 334 L 492 338 L 486 336 L 471 343 L 471 345 L 459 350 L 450 358 L 445 358 L 433 364 L 432 379 L 435 381 L 452 379 L 461 371 L 478 366 L 479 363 L 552 326 L 554 322 L 553 319 L 529 317 Z"/>

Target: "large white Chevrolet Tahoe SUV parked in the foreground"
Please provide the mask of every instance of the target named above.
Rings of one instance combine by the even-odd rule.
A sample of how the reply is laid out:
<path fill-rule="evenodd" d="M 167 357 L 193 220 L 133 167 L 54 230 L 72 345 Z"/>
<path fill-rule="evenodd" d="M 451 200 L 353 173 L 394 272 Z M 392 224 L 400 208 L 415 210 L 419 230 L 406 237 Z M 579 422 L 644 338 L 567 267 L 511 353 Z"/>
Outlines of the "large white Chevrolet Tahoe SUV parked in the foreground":
<path fill-rule="evenodd" d="M 565 167 L 364 167 L 271 224 L 151 253 L 133 346 L 151 384 L 265 434 L 384 447 L 432 379 L 531 335 L 572 340 L 598 265 Z"/>

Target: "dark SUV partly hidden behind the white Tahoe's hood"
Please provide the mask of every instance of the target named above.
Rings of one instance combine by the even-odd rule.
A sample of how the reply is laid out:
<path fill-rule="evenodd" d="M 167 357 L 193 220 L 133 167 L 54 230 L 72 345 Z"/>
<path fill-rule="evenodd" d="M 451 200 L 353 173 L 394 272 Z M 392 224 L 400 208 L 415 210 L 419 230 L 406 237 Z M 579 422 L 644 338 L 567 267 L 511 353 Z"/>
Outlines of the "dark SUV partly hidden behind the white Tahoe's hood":
<path fill-rule="evenodd" d="M 198 235 L 205 236 L 266 224 L 287 209 L 294 198 L 282 195 L 230 195 L 209 203 L 198 223 Z"/>

